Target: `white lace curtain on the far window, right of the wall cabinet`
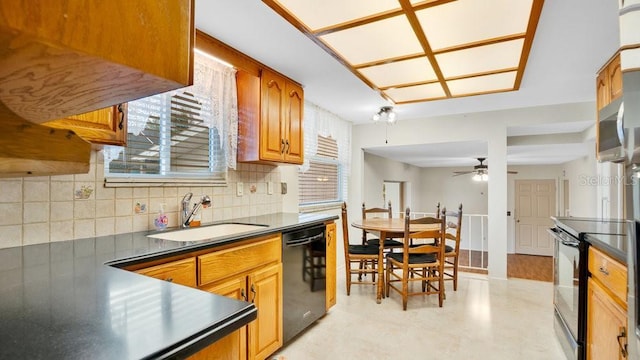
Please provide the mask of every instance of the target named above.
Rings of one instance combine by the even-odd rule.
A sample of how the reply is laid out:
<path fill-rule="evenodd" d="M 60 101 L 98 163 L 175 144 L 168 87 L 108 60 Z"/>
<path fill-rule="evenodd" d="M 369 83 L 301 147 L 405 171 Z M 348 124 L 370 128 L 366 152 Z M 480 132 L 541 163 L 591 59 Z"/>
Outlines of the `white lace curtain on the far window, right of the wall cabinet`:
<path fill-rule="evenodd" d="M 341 166 L 342 194 L 347 196 L 348 174 L 351 167 L 351 122 L 308 101 L 304 102 L 304 163 L 300 171 L 309 169 L 309 157 L 318 153 L 318 135 L 331 137 L 338 144 Z"/>

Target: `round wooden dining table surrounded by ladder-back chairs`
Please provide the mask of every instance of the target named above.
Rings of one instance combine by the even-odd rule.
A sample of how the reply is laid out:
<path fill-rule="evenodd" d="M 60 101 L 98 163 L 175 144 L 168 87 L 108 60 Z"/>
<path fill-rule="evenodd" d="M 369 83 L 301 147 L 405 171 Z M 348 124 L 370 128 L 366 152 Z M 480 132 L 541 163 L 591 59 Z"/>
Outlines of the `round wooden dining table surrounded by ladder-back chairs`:
<path fill-rule="evenodd" d="M 351 223 L 351 226 L 374 233 L 380 238 L 378 249 L 378 287 L 376 302 L 380 304 L 384 295 L 384 241 L 383 239 L 394 238 L 404 241 L 404 219 L 403 218 L 370 218 L 359 219 Z M 439 224 L 409 224 L 409 233 L 418 231 L 438 230 Z"/>

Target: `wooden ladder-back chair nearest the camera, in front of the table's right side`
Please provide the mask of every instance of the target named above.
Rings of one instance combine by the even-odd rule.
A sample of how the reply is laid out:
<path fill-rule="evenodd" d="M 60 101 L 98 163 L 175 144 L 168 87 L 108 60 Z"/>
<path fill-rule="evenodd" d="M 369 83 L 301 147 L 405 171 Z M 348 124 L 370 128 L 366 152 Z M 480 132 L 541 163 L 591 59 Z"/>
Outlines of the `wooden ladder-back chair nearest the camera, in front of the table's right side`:
<path fill-rule="evenodd" d="M 388 253 L 385 273 L 385 293 L 393 289 L 402 295 L 402 309 L 407 310 L 409 296 L 438 294 L 438 305 L 444 302 L 444 247 L 446 213 L 440 218 L 422 217 L 410 219 L 405 212 L 402 252 Z M 412 224 L 432 225 L 430 229 L 411 231 Z M 410 239 L 436 239 L 432 244 L 410 246 Z M 412 275 L 412 276 L 410 276 Z M 421 283 L 421 291 L 413 290 L 414 282 Z M 411 283 L 411 284 L 410 284 Z"/>

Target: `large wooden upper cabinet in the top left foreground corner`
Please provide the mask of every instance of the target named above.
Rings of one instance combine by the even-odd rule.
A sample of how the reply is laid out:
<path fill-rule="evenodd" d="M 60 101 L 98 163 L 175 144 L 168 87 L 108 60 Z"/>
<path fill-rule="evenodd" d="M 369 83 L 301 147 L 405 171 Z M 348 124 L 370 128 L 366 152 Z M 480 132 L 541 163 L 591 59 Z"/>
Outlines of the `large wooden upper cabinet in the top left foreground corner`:
<path fill-rule="evenodd" d="M 0 124 L 193 83 L 194 0 L 0 2 Z"/>

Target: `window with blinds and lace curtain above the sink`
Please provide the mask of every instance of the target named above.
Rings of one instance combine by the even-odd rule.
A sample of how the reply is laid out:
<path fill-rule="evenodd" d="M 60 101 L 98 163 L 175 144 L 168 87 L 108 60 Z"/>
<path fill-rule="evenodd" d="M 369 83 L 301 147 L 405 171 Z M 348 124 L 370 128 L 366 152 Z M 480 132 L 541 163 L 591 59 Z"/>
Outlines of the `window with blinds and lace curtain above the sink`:
<path fill-rule="evenodd" d="M 227 167 L 235 167 L 227 156 L 235 157 L 235 142 L 224 135 L 237 123 L 235 72 L 203 56 L 195 60 L 193 86 L 128 103 L 127 146 L 105 148 L 107 184 L 226 183 Z M 231 70 L 232 87 L 203 85 L 220 83 L 206 79 L 220 76 L 214 67 Z"/>

